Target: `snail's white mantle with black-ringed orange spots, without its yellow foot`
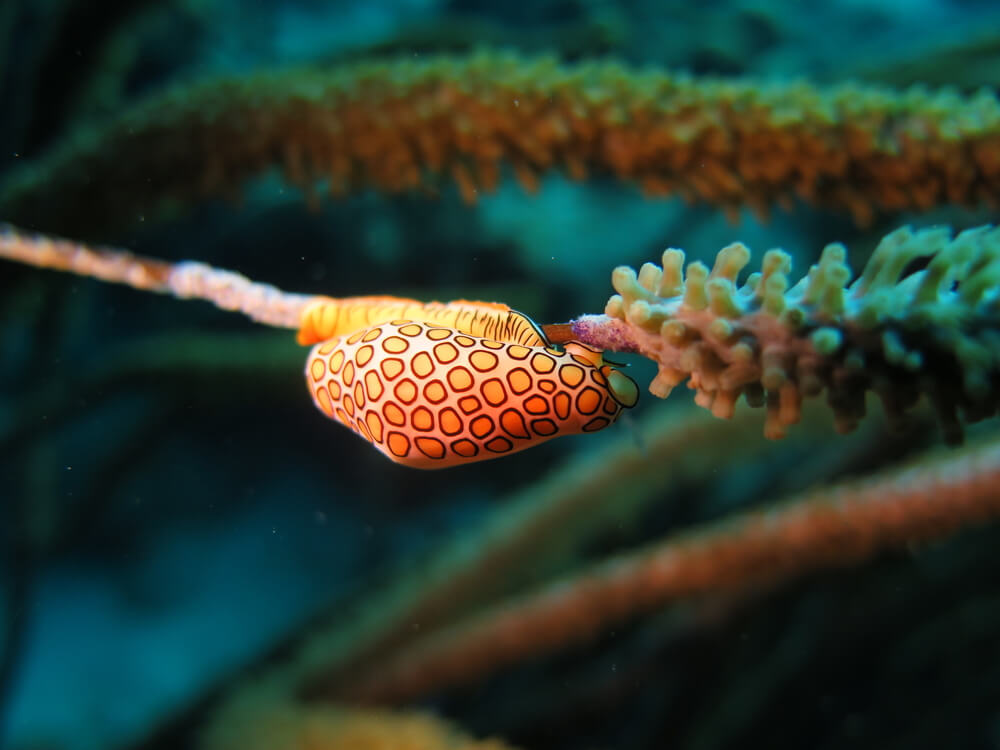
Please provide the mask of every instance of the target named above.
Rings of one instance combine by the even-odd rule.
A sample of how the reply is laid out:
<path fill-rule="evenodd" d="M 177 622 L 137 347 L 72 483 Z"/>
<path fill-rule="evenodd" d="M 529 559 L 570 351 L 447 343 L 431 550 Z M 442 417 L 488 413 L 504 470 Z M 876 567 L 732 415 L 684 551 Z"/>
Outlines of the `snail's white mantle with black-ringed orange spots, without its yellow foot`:
<path fill-rule="evenodd" d="M 595 432 L 638 389 L 582 344 L 565 351 L 393 320 L 317 344 L 316 406 L 397 463 L 436 469 Z"/>

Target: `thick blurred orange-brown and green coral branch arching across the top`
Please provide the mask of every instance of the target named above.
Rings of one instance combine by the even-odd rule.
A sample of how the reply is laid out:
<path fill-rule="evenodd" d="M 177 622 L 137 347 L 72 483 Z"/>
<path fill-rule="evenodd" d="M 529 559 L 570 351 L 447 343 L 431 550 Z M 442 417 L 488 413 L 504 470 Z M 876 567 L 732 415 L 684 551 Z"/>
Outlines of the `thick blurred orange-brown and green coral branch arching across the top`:
<path fill-rule="evenodd" d="M 817 88 L 496 54 L 359 63 L 174 89 L 78 132 L 6 186 L 0 213 L 79 234 L 232 195 L 276 166 L 334 193 L 446 176 L 473 201 L 503 163 L 528 189 L 560 167 L 725 208 L 798 198 L 864 224 L 997 205 L 1000 104 L 987 90 Z"/>

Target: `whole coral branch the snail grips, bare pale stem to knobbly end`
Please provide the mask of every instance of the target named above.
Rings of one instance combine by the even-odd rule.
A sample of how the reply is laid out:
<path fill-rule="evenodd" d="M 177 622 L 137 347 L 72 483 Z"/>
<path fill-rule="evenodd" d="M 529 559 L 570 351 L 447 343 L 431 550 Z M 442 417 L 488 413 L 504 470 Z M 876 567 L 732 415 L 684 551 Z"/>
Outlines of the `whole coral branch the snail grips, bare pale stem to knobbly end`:
<path fill-rule="evenodd" d="M 360 338 L 365 328 L 398 317 L 513 342 L 520 352 L 513 365 L 528 356 L 522 344 L 541 350 L 548 343 L 529 318 L 502 303 L 293 294 L 201 263 L 170 265 L 10 228 L 0 229 L 0 256 L 207 300 L 268 325 L 299 327 L 304 344 Z M 659 365 L 650 383 L 654 395 L 665 398 L 688 379 L 695 401 L 718 417 L 731 417 L 740 396 L 753 406 L 766 404 L 764 432 L 770 438 L 783 437 L 799 420 L 803 398 L 823 391 L 842 432 L 864 416 L 869 391 L 897 423 L 926 396 L 953 443 L 962 439 L 960 416 L 975 422 L 1000 406 L 1000 230 L 983 226 L 952 238 L 947 227 L 902 227 L 882 239 L 853 282 L 840 244 L 827 245 L 794 284 L 791 256 L 769 250 L 761 270 L 738 285 L 750 262 L 742 243 L 720 251 L 711 270 L 694 262 L 685 271 L 684 253 L 676 249 L 666 250 L 662 262 L 647 263 L 638 273 L 615 269 L 618 294 L 605 315 L 544 326 L 544 333 L 570 346 L 583 342 L 641 353 Z M 318 348 L 324 357 L 332 351 L 326 346 Z M 583 362 L 579 356 L 577 361 Z M 309 368 L 314 386 L 326 373 L 325 360 L 315 367 Z M 633 405 L 634 384 L 612 380 L 628 395 L 627 403 L 620 394 L 614 398 Z M 329 416 L 326 398 L 317 405 Z M 368 436 L 367 430 L 360 433 Z"/>

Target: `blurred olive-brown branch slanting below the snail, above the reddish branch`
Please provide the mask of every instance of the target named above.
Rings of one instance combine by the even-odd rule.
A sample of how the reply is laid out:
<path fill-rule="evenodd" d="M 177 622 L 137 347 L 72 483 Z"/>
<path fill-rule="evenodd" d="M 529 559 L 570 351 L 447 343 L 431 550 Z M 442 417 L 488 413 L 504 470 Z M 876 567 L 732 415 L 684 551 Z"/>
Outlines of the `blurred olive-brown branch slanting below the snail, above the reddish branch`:
<path fill-rule="evenodd" d="M 828 420 L 821 418 L 825 416 L 807 412 L 803 445 L 818 450 L 829 429 Z M 409 565 L 379 584 L 378 595 L 363 607 L 345 616 L 338 606 L 332 622 L 316 623 L 293 659 L 303 694 L 337 695 L 349 689 L 366 665 L 386 661 L 421 634 L 460 619 L 491 597 L 514 594 L 546 571 L 565 570 L 565 564 L 552 565 L 554 557 L 575 559 L 586 540 L 632 523 L 672 489 L 708 481 L 722 464 L 736 467 L 773 458 L 778 446 L 754 437 L 759 425 L 748 409 L 730 423 L 706 419 L 697 410 L 648 414 L 636 425 L 635 435 L 623 434 L 506 498 L 480 530 L 437 551 L 426 565 Z M 843 466 L 840 462 L 849 462 L 859 446 L 866 446 L 863 452 L 870 455 L 875 435 L 885 443 L 884 433 L 873 429 L 855 443 L 842 444 L 824 469 Z M 743 497 L 755 488 L 752 482 L 744 484 Z"/>

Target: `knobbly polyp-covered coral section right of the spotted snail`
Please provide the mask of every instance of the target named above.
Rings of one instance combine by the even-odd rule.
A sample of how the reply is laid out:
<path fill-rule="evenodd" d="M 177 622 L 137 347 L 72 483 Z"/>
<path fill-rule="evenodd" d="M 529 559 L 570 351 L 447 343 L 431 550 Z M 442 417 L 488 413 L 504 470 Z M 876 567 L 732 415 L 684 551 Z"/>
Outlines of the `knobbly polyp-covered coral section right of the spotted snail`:
<path fill-rule="evenodd" d="M 574 321 L 568 335 L 659 364 L 661 398 L 690 378 L 695 400 L 730 417 L 737 399 L 767 404 L 765 434 L 779 438 L 803 397 L 827 393 L 837 427 L 854 428 L 874 391 L 898 420 L 921 396 L 945 437 L 961 440 L 959 414 L 976 421 L 1000 405 L 1000 230 L 947 227 L 887 235 L 853 282 L 839 244 L 789 280 L 791 257 L 769 250 L 738 285 L 750 251 L 724 248 L 709 270 L 670 249 L 662 267 L 615 270 L 605 316 Z M 918 270 L 919 269 L 919 270 Z"/>

